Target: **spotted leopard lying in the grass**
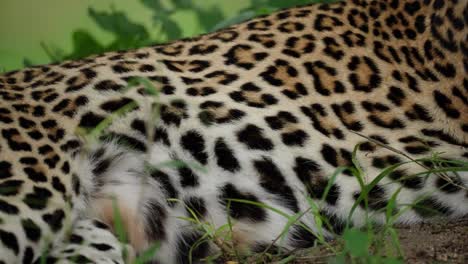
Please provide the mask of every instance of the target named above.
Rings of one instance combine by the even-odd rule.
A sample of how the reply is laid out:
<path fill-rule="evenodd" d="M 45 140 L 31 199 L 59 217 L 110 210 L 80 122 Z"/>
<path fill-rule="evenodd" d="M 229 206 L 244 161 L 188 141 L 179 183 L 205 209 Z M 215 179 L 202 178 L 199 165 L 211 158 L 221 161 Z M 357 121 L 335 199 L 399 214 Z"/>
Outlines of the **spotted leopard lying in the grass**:
<path fill-rule="evenodd" d="M 155 243 L 150 263 L 201 262 L 221 249 L 190 219 L 247 254 L 385 224 L 390 205 L 398 224 L 465 217 L 468 172 L 442 171 L 468 161 L 467 73 L 466 0 L 297 6 L 4 73 L 0 263 Z"/>

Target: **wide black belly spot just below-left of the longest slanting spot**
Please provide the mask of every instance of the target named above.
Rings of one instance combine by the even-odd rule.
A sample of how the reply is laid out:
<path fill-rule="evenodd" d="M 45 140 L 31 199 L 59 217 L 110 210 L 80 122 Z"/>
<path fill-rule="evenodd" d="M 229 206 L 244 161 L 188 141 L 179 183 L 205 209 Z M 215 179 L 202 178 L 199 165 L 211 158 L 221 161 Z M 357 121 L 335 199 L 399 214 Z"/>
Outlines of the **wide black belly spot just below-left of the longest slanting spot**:
<path fill-rule="evenodd" d="M 228 183 L 220 188 L 219 203 L 225 206 L 226 210 L 229 209 L 229 215 L 232 218 L 245 219 L 253 222 L 262 222 L 267 219 L 267 213 L 262 207 L 241 201 L 232 201 L 230 199 L 245 200 L 255 203 L 260 202 L 253 194 L 242 193 L 233 184 Z"/>

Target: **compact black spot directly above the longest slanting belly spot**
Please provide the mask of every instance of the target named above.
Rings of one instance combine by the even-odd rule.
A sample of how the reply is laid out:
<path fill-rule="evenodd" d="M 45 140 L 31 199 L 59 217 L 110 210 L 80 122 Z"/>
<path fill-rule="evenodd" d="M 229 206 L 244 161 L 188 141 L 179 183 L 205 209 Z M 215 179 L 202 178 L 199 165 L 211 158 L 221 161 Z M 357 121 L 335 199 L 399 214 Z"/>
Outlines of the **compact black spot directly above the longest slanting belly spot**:
<path fill-rule="evenodd" d="M 244 129 L 237 132 L 237 139 L 247 145 L 249 149 L 273 150 L 273 142 L 264 137 L 263 129 L 248 124 Z"/>

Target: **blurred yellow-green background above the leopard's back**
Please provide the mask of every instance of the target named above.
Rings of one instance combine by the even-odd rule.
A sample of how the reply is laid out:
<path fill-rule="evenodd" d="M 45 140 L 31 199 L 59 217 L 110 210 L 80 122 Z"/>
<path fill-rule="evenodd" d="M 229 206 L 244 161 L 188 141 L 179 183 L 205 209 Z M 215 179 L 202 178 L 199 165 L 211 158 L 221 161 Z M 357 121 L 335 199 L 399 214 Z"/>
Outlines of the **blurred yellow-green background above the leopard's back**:
<path fill-rule="evenodd" d="M 333 0 L 0 0 L 0 72 L 210 32 Z"/>

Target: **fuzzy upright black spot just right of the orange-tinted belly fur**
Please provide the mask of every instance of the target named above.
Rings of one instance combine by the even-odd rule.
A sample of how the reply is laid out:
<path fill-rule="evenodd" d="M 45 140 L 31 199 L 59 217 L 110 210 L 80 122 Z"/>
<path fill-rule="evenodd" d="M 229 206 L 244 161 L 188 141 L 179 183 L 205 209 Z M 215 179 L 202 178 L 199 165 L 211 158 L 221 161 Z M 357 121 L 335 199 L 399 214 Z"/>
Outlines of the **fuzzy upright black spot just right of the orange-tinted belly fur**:
<path fill-rule="evenodd" d="M 167 212 L 155 200 L 149 200 L 145 203 L 145 234 L 151 241 L 161 241 L 166 238 L 166 222 Z"/>

